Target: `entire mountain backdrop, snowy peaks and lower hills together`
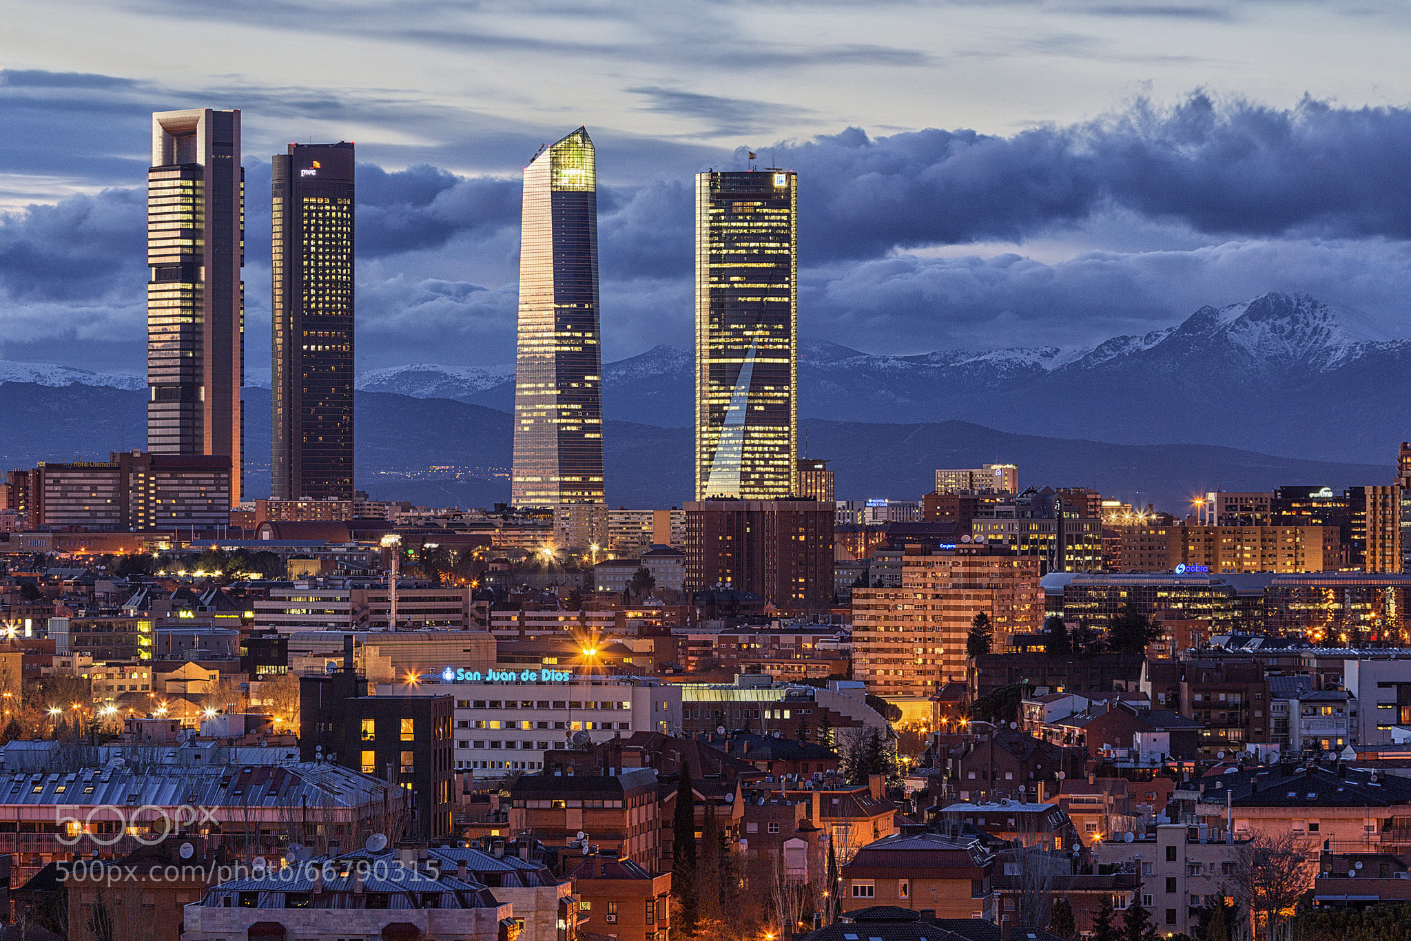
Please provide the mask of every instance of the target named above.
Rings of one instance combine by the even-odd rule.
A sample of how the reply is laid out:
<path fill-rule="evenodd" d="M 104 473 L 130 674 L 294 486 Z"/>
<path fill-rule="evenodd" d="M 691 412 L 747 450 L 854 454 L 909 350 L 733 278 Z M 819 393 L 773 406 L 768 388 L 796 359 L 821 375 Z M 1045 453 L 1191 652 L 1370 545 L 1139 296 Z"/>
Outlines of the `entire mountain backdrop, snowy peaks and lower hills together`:
<path fill-rule="evenodd" d="M 608 499 L 680 504 L 690 351 L 659 346 L 602 372 Z M 1305 295 L 1202 308 L 1078 350 L 893 357 L 801 343 L 799 381 L 800 444 L 832 460 L 840 498 L 916 498 L 937 467 L 1013 461 L 1026 484 L 1094 485 L 1175 509 L 1215 485 L 1387 482 L 1397 443 L 1411 437 L 1387 418 L 1411 394 L 1411 340 L 1360 333 L 1355 315 Z M 258 495 L 268 490 L 270 394 L 258 388 L 268 372 L 247 382 L 247 490 Z M 0 363 L 0 460 L 141 446 L 143 385 Z M 357 388 L 360 488 L 418 502 L 508 497 L 512 365 L 381 368 Z"/>

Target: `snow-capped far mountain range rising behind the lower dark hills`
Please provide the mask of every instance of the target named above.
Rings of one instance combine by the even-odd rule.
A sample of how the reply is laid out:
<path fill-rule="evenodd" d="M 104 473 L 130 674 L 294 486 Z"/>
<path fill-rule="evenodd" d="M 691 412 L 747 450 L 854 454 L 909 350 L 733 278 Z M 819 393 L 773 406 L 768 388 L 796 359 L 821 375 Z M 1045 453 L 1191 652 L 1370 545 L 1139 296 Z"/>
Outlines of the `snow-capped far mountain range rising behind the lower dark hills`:
<path fill-rule="evenodd" d="M 605 364 L 604 416 L 690 426 L 693 370 L 691 351 L 669 346 Z M 512 364 L 388 367 L 360 375 L 357 388 L 514 411 Z M 1277 292 L 1074 350 L 873 356 L 818 341 L 799 350 L 801 418 L 955 419 L 1026 435 L 1198 442 L 1329 461 L 1393 460 L 1411 429 L 1388 425 L 1386 406 L 1408 395 L 1411 339 L 1364 334 L 1346 312 Z"/>

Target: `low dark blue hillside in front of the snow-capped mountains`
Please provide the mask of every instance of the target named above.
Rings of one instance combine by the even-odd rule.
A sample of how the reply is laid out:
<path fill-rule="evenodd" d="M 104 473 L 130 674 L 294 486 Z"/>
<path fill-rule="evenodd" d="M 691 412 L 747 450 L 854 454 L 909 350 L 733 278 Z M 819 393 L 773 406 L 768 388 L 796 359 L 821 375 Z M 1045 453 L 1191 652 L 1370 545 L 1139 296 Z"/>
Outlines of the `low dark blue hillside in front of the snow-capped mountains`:
<path fill-rule="evenodd" d="M 246 490 L 270 490 L 270 392 L 246 388 Z M 126 433 L 144 446 L 141 392 L 111 387 L 0 384 L 0 460 L 106 459 Z M 511 416 L 452 399 L 357 394 L 357 484 L 377 498 L 419 504 L 490 505 L 509 498 Z M 1274 457 L 1209 444 L 1110 444 L 996 432 L 969 422 L 882 425 L 803 422 L 810 454 L 827 457 L 838 497 L 916 499 L 937 467 L 996 460 L 1020 467 L 1020 484 L 1095 487 L 1132 502 L 1180 511 L 1191 494 L 1271 490 L 1281 484 L 1333 488 L 1390 481 L 1390 464 Z M 124 430 L 126 429 L 126 430 Z M 691 495 L 691 432 L 629 422 L 604 425 L 608 502 L 679 506 Z M 415 474 L 416 478 L 409 475 Z"/>

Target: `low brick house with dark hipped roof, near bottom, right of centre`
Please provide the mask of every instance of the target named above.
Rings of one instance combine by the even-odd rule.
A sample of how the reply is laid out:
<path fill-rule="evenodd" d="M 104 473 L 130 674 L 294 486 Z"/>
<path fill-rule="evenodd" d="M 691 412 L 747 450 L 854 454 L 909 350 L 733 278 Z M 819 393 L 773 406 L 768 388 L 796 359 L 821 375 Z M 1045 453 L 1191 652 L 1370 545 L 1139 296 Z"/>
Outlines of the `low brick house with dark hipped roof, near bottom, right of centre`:
<path fill-rule="evenodd" d="M 840 863 L 842 911 L 880 904 L 943 918 L 983 917 L 995 869 L 974 839 L 910 831 L 869 842 Z"/>

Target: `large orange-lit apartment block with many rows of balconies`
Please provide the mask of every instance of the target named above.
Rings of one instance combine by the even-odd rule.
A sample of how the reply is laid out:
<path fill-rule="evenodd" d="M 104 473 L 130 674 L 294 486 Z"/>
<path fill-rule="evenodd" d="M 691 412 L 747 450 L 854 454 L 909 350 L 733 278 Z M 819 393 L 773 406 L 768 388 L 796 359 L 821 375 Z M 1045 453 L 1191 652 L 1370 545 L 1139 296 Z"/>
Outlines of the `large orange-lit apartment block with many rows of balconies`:
<path fill-rule="evenodd" d="M 854 672 L 876 696 L 930 696 L 965 677 L 965 641 L 983 612 L 995 645 L 1043 619 L 1038 566 L 988 546 L 907 546 L 899 588 L 854 588 Z"/>

